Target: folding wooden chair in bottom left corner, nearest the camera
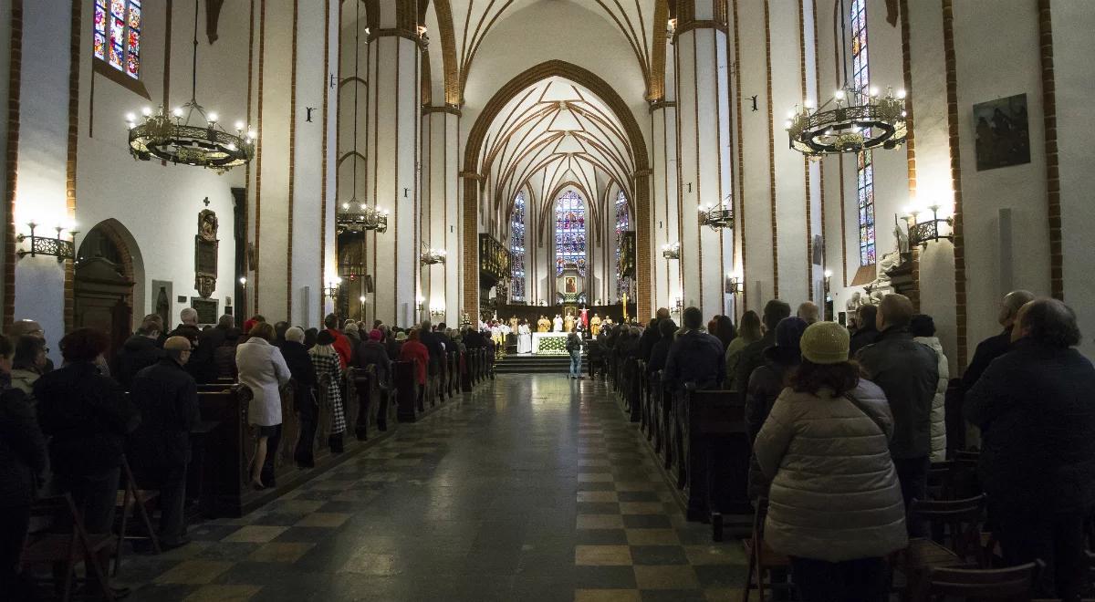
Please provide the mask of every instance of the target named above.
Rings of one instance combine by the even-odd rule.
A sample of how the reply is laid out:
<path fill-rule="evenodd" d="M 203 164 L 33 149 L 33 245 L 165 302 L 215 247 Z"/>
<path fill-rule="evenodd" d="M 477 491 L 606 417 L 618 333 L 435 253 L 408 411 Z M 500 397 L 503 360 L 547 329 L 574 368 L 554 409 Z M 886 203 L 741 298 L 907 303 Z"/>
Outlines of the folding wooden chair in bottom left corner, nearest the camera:
<path fill-rule="evenodd" d="M 103 597 L 114 600 L 107 575 L 99 563 L 99 556 L 117 545 L 113 533 L 89 534 L 83 526 L 83 517 L 76 508 L 72 496 L 44 497 L 31 506 L 31 519 L 51 521 L 51 525 L 39 532 L 32 532 L 23 544 L 20 567 L 54 566 L 64 563 L 64 583 L 60 583 L 61 600 L 72 598 L 76 580 L 76 565 L 83 562 L 87 574 L 94 575 Z M 90 583 L 90 579 L 87 580 Z"/>

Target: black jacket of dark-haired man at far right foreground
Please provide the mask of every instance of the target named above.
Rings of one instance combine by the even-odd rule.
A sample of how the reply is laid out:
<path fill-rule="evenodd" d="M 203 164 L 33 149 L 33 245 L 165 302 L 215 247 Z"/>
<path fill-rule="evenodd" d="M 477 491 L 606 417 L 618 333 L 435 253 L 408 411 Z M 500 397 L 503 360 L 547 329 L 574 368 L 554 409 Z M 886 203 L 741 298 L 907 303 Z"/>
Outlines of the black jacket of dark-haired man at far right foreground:
<path fill-rule="evenodd" d="M 1095 506 L 1095 368 L 1080 351 L 1022 339 L 966 393 L 982 429 L 981 484 L 994 502 L 1064 512 Z"/>

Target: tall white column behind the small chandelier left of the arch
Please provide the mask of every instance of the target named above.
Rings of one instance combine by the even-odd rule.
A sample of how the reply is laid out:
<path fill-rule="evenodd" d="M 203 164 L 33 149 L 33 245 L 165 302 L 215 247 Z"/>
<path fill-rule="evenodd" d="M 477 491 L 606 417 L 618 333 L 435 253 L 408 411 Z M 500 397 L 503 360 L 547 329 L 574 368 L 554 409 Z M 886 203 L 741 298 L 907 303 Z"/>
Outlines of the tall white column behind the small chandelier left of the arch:
<path fill-rule="evenodd" d="M 369 35 L 368 204 L 389 211 L 388 231 L 371 232 L 366 263 L 376 282 L 372 315 L 388 324 L 416 321 L 418 291 L 419 48 L 417 34 L 381 3 Z M 393 3 L 394 4 L 394 3 Z"/>

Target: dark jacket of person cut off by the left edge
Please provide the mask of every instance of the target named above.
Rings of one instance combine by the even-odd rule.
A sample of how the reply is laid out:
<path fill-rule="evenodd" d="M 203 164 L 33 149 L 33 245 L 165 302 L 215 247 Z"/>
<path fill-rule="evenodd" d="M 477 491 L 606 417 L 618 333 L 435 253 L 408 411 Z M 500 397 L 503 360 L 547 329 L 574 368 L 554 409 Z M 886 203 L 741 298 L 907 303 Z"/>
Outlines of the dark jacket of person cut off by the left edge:
<path fill-rule="evenodd" d="M 26 506 L 34 499 L 46 468 L 46 440 L 34 409 L 18 389 L 0 393 L 0 508 Z"/>

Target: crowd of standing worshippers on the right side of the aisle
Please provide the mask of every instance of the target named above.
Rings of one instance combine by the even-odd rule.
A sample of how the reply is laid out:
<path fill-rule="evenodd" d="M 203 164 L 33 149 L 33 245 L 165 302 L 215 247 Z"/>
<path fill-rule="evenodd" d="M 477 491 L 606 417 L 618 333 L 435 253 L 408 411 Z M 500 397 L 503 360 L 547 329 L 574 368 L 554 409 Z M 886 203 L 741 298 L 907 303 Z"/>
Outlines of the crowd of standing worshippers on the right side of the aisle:
<path fill-rule="evenodd" d="M 902 294 L 850 316 L 769 301 L 706 324 L 687 308 L 678 326 L 658 310 L 645 328 L 610 327 L 592 346 L 661 371 L 666 394 L 723 390 L 745 405 L 752 447 L 748 495 L 766 512 L 766 544 L 791 557 L 807 602 L 886 601 L 887 558 L 932 535 L 910 516 L 930 499 L 933 462 L 960 449 L 947 440 L 947 398 L 978 455 L 988 521 L 1008 566 L 1045 564 L 1036 590 L 1080 600 L 1086 533 L 1095 510 L 1095 368 L 1075 346 L 1075 313 L 1014 291 L 1001 302 L 1003 332 L 977 346 L 961 379 L 930 315 Z M 592 362 L 591 362 L 592 363 Z M 627 366 L 620 362 L 621 366 Z"/>

